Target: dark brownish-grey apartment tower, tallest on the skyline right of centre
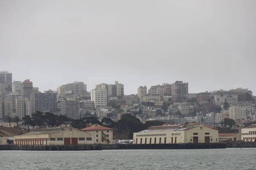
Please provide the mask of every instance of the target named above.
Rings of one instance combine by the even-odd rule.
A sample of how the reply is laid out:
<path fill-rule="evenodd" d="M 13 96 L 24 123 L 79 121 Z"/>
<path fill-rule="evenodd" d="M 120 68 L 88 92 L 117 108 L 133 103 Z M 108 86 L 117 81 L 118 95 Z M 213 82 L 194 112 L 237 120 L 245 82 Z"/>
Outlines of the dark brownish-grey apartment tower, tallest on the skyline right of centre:
<path fill-rule="evenodd" d="M 189 99 L 189 83 L 176 81 L 172 83 L 172 101 L 185 102 Z"/>

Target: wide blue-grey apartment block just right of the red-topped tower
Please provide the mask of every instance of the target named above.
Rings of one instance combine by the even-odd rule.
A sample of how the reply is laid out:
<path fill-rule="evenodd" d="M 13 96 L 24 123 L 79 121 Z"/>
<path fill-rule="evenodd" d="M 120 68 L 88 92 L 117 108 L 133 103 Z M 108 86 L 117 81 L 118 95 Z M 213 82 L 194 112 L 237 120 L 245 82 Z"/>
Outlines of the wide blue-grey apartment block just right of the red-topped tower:
<path fill-rule="evenodd" d="M 57 110 L 57 93 L 52 90 L 31 94 L 31 111 L 55 113 Z"/>

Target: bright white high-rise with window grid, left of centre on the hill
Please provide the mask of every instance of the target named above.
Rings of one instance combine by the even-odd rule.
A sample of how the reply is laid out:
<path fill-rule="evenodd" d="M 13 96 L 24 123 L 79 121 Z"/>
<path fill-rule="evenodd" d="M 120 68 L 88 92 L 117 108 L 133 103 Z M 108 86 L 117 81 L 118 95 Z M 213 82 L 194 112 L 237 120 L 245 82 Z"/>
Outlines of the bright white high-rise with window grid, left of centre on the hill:
<path fill-rule="evenodd" d="M 94 107 L 102 107 L 107 105 L 107 89 L 96 88 L 91 91 L 91 100 L 94 101 Z"/>

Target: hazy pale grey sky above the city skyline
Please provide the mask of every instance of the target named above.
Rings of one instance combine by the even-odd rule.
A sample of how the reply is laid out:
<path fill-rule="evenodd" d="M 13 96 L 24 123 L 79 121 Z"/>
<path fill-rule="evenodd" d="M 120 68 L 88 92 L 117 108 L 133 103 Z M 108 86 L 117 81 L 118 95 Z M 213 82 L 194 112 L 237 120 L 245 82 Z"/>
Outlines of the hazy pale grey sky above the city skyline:
<path fill-rule="evenodd" d="M 256 94 L 255 0 L 0 0 L 0 70 L 40 91 L 189 82 Z"/>

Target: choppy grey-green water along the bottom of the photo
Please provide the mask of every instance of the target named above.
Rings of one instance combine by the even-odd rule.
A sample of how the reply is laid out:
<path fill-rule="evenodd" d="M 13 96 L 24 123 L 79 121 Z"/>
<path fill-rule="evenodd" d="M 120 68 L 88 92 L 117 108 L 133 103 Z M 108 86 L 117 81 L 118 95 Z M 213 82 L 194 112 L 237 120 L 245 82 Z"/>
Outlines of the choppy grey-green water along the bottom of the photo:
<path fill-rule="evenodd" d="M 256 170 L 256 148 L 0 151 L 0 170 Z"/>

